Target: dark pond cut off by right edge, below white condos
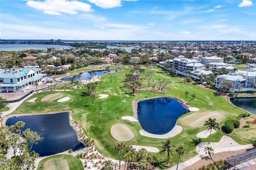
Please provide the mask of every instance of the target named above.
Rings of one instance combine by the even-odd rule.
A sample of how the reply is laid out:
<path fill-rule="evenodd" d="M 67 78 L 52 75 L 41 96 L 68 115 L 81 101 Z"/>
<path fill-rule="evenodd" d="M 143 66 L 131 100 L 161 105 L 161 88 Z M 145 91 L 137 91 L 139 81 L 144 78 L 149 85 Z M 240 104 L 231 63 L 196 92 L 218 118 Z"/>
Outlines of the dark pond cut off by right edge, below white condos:
<path fill-rule="evenodd" d="M 256 98 L 231 98 L 232 104 L 256 114 Z"/>

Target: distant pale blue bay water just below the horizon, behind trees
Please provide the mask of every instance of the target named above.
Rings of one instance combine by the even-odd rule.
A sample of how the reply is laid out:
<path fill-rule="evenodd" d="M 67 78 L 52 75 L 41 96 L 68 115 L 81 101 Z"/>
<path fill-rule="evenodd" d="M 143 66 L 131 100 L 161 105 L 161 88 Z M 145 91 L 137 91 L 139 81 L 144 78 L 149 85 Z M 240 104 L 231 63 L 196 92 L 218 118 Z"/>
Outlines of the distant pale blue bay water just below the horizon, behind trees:
<path fill-rule="evenodd" d="M 71 46 L 66 45 L 51 45 L 51 44 L 0 44 L 0 51 L 24 51 L 24 50 L 42 50 L 47 48 L 56 48 L 56 49 L 69 49 Z M 108 49 L 124 49 L 128 53 L 134 49 L 134 47 L 116 47 L 116 46 L 107 46 Z M 99 51 L 100 49 L 92 49 Z M 149 49 L 148 49 L 149 50 Z M 164 49 L 154 49 L 160 51 L 161 53 L 166 52 Z"/>

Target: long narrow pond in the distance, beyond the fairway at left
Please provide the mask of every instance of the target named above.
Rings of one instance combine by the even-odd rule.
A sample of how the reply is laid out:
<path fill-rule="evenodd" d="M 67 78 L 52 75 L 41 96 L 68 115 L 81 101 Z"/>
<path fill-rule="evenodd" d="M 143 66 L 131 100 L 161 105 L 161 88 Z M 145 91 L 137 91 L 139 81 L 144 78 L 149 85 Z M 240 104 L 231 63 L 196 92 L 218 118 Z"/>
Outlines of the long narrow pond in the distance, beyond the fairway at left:
<path fill-rule="evenodd" d="M 93 76 L 97 76 L 97 75 L 104 75 L 104 74 L 110 74 L 113 72 L 120 72 L 121 70 L 104 70 L 104 71 L 86 71 L 86 72 L 81 72 L 80 75 L 80 79 L 78 78 L 78 75 L 73 76 L 73 77 L 65 77 L 60 79 L 61 81 L 70 81 L 71 79 L 73 79 L 74 81 L 82 81 L 82 80 L 87 80 L 89 78 L 92 78 Z"/>

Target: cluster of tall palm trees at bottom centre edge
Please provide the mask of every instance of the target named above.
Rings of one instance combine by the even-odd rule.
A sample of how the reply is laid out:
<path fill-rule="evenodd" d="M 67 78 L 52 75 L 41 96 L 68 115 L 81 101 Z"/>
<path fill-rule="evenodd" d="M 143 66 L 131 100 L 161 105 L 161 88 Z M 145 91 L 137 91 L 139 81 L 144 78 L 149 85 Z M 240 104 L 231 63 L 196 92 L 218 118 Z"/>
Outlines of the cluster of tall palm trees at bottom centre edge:
<path fill-rule="evenodd" d="M 169 163 L 170 156 L 173 155 L 172 149 L 175 148 L 174 145 L 171 144 L 171 140 L 168 139 L 166 141 L 162 142 L 161 146 L 162 150 L 160 153 L 166 153 L 167 154 L 167 163 Z M 119 152 L 119 167 L 121 166 L 121 159 L 122 159 L 122 151 L 125 151 L 125 154 L 123 156 L 123 160 L 125 161 L 124 170 L 129 170 L 130 168 L 134 168 L 132 166 L 132 162 L 137 161 L 138 166 L 137 170 L 140 168 L 140 170 L 148 170 L 148 166 L 153 165 L 153 169 L 155 168 L 155 163 L 158 162 L 158 156 L 157 155 L 148 155 L 148 151 L 144 148 L 139 149 L 138 152 L 135 151 L 135 149 L 132 146 L 127 146 L 124 143 L 118 143 L 115 146 L 115 149 Z M 182 146 L 179 146 L 176 149 L 176 152 L 179 155 L 178 163 L 180 161 L 180 156 L 184 155 L 185 149 Z M 177 164 L 177 170 L 178 170 L 178 164 Z"/>

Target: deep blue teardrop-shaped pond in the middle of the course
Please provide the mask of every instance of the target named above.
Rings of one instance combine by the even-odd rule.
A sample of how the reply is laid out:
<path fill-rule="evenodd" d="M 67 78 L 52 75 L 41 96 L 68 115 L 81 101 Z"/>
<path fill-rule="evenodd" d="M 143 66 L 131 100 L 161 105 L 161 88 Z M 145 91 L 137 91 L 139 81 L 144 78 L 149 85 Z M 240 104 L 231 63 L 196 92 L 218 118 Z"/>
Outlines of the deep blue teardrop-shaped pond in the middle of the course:
<path fill-rule="evenodd" d="M 156 135 L 168 133 L 188 109 L 172 98 L 154 98 L 138 103 L 138 120 L 142 128 Z"/>

